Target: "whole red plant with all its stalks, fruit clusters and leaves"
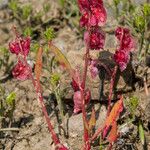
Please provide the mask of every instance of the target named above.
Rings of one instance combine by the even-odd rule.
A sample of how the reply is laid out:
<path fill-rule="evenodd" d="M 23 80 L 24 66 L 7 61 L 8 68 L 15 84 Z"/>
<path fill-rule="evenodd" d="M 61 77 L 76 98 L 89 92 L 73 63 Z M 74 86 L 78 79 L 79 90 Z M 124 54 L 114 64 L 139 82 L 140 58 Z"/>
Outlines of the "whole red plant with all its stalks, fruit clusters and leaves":
<path fill-rule="evenodd" d="M 108 113 L 104 125 L 98 128 L 95 133 L 91 132 L 93 126 L 95 126 L 95 110 L 92 109 L 91 118 L 87 119 L 87 105 L 90 103 L 91 91 L 90 87 L 86 87 L 86 78 L 88 70 L 91 72 L 92 78 L 96 77 L 100 72 L 98 66 L 100 61 L 98 59 L 92 59 L 90 53 L 94 50 L 100 51 L 104 49 L 105 33 L 101 27 L 105 25 L 107 19 L 106 9 L 102 0 L 78 0 L 79 9 L 81 12 L 80 26 L 85 30 L 84 42 L 85 42 L 85 56 L 83 72 L 79 72 L 78 69 L 72 69 L 66 57 L 60 52 L 60 50 L 53 44 L 51 40 L 51 34 L 46 34 L 48 39 L 48 45 L 50 51 L 55 54 L 56 59 L 60 65 L 66 67 L 72 78 L 72 88 L 74 90 L 74 114 L 82 112 L 84 135 L 83 135 L 83 149 L 90 150 L 92 142 L 102 134 L 103 139 L 107 139 L 110 143 L 109 148 L 117 140 L 117 119 L 120 113 L 123 111 L 123 97 L 118 96 L 119 100 L 111 106 L 111 99 L 113 95 L 114 80 L 116 71 L 119 68 L 124 71 L 130 60 L 130 53 L 134 48 L 134 40 L 130 34 L 130 31 L 123 27 L 116 29 L 116 38 L 118 40 L 118 46 L 114 54 L 114 61 L 116 62 L 115 68 L 109 69 L 106 65 L 103 65 L 106 72 L 111 76 L 110 91 L 108 96 Z M 32 68 L 27 62 L 27 56 L 30 50 L 30 38 L 23 38 L 16 33 L 15 41 L 9 44 L 10 51 L 17 56 L 17 64 L 15 65 L 12 74 L 19 80 L 31 79 L 35 87 L 35 91 L 39 98 L 42 111 L 46 118 L 49 131 L 52 135 L 52 139 L 58 150 L 67 150 L 67 148 L 60 143 L 59 138 L 53 130 L 53 126 L 49 120 L 46 107 L 43 102 L 42 89 L 40 85 L 40 74 L 42 70 L 42 48 L 39 48 L 37 53 L 36 65 L 35 65 L 35 78 L 32 73 Z"/>

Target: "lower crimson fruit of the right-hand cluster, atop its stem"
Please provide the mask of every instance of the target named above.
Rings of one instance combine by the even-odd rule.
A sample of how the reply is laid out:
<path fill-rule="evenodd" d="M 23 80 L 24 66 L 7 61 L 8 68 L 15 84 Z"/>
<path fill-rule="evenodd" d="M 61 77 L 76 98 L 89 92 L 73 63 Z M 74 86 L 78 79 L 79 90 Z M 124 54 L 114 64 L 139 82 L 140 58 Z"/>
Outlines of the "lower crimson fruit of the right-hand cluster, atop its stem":
<path fill-rule="evenodd" d="M 130 53 L 124 50 L 117 50 L 114 54 L 114 60 L 119 65 L 120 70 L 124 71 L 130 60 Z"/>

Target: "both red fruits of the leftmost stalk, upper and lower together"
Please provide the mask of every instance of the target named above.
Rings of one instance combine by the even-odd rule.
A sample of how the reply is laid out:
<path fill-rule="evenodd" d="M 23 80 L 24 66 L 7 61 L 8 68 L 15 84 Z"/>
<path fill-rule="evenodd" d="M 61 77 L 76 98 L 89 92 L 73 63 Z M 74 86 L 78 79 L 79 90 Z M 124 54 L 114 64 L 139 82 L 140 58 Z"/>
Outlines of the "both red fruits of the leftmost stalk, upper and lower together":
<path fill-rule="evenodd" d="M 30 50 L 30 38 L 16 38 L 15 41 L 9 43 L 9 50 L 11 53 L 16 54 L 18 62 L 12 70 L 14 78 L 18 80 L 26 80 L 31 73 L 31 67 L 27 64 L 26 56 Z"/>

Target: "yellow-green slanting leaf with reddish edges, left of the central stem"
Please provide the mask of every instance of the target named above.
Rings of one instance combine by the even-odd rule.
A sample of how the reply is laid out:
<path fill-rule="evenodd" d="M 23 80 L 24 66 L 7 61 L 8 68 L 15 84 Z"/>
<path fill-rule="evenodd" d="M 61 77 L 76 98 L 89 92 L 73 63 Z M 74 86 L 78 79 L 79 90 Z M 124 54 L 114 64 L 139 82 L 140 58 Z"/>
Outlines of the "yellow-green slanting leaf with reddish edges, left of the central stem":
<path fill-rule="evenodd" d="M 50 51 L 52 53 L 54 53 L 54 55 L 55 55 L 57 61 L 60 63 L 60 65 L 65 67 L 67 69 L 67 71 L 70 73 L 70 76 L 73 77 L 73 69 L 72 69 L 68 59 L 66 58 L 66 56 L 61 52 L 61 50 L 59 50 L 52 43 L 49 43 L 49 48 L 50 48 Z"/>

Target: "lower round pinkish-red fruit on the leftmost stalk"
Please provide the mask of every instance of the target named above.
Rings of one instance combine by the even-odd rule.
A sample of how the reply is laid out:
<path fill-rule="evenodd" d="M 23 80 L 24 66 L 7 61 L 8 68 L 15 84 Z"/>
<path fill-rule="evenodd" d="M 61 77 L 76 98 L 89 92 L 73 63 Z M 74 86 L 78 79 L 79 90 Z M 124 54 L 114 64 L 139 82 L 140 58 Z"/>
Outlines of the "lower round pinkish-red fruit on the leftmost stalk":
<path fill-rule="evenodd" d="M 12 70 L 12 74 L 14 78 L 18 80 L 26 80 L 29 78 L 31 72 L 31 67 L 24 64 L 22 61 L 18 61 L 18 63 L 14 66 Z"/>

